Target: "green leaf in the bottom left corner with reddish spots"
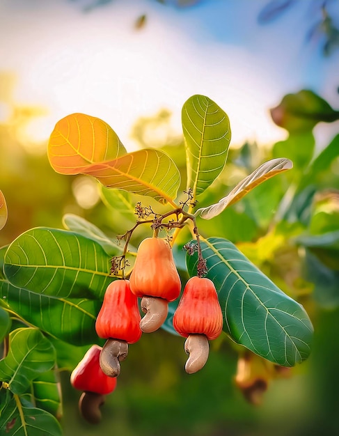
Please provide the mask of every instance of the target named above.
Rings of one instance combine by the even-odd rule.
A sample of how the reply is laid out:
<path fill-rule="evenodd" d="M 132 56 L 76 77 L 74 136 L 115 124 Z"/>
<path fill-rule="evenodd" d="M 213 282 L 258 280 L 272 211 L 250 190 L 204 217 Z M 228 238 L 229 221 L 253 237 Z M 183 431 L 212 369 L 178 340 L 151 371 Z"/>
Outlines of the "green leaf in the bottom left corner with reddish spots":
<path fill-rule="evenodd" d="M 62 436 L 52 414 L 35 407 L 23 407 L 17 395 L 0 389 L 0 434 L 9 436 Z"/>

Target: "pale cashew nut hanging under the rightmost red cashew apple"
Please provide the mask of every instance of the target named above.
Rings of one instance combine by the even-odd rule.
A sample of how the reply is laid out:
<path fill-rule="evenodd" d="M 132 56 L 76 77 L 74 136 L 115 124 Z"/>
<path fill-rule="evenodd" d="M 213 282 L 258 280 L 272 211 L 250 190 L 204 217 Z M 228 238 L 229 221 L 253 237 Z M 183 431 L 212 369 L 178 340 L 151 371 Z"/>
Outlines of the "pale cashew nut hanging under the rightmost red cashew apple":
<path fill-rule="evenodd" d="M 210 345 L 205 334 L 190 334 L 184 343 L 184 350 L 189 355 L 185 365 L 187 374 L 199 371 L 208 359 Z"/>

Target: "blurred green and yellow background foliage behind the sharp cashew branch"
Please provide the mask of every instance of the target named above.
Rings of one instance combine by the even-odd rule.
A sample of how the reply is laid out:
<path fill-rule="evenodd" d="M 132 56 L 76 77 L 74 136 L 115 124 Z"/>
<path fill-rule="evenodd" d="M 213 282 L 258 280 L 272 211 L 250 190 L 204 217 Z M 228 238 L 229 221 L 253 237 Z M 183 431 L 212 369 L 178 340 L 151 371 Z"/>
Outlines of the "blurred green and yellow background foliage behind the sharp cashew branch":
<path fill-rule="evenodd" d="M 308 109 L 312 104 L 307 99 L 317 102 L 315 111 L 320 118 L 315 120 L 313 111 L 312 123 L 300 103 L 304 98 Z M 84 348 L 61 347 L 56 341 L 57 350 L 61 348 L 65 354 L 63 358 L 58 350 L 58 366 L 65 370 L 61 371 L 65 436 L 337 434 L 339 135 L 315 155 L 312 131 L 329 114 L 333 117 L 330 121 L 338 119 L 338 111 L 310 91 L 286 96 L 278 108 L 281 117 L 277 124 L 289 132 L 286 141 L 270 150 L 248 143 L 231 149 L 220 180 L 200 198 L 198 207 L 218 201 L 234 186 L 235 177 L 240 180 L 271 157 L 289 157 L 294 169 L 256 187 L 212 221 L 199 220 L 198 226 L 203 235 L 213 234 L 237 244 L 272 281 L 302 302 L 315 325 L 310 358 L 292 369 L 290 377 L 271 381 L 262 405 L 253 407 L 235 385 L 238 345 L 225 338 L 215 341 L 203 371 L 187 375 L 182 338 L 165 331 L 143 335 L 143 341 L 131 348 L 118 388 L 102 409 L 102 423 L 92 427 L 79 417 L 79 393 L 69 384 L 69 358 L 74 357 L 75 366 Z M 112 237 L 126 231 L 131 224 L 130 210 L 125 212 L 128 219 L 117 218 L 104 204 L 104 190 L 100 194 L 103 202 L 81 208 L 72 189 L 77 176 L 56 174 L 45 153 L 31 154 L 22 147 L 18 129 L 31 116 L 27 108 L 15 108 L 11 118 L 0 124 L 0 188 L 9 213 L 0 233 L 1 244 L 35 226 L 61 228 L 66 212 L 88 219 Z M 300 125 L 304 127 L 300 129 Z M 137 127 L 134 136 L 139 136 L 142 146 L 143 123 Z M 149 128 L 149 123 L 144 127 Z M 173 157 L 185 180 L 182 146 L 182 138 L 167 136 L 161 149 Z M 136 244 L 139 237 L 136 233 Z M 182 243 L 184 238 L 182 235 Z"/>

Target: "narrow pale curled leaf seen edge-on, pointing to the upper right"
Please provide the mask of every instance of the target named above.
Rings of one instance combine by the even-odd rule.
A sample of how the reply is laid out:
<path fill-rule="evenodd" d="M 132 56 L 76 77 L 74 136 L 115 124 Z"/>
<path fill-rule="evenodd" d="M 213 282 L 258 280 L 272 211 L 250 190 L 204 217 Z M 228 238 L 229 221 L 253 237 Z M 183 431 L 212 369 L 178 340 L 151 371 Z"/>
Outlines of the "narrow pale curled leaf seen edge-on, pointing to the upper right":
<path fill-rule="evenodd" d="M 291 169 L 293 166 L 290 159 L 278 158 L 271 159 L 264 164 L 260 165 L 253 173 L 244 178 L 241 182 L 235 186 L 232 191 L 221 198 L 218 203 L 208 206 L 207 208 L 200 208 L 196 211 L 196 215 L 200 214 L 200 217 L 204 219 L 211 219 L 223 212 L 227 206 L 235 203 L 240 198 L 245 196 L 251 189 L 258 186 L 265 180 L 276 176 L 276 174 L 282 173 L 287 169 Z"/>

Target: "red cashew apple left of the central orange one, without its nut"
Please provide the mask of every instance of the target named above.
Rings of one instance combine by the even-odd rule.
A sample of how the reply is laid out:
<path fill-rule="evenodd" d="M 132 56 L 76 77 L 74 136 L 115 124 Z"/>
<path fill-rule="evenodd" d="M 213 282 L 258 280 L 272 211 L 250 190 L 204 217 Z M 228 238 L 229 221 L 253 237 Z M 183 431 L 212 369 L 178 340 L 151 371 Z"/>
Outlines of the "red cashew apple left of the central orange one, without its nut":
<path fill-rule="evenodd" d="M 112 281 L 95 322 L 97 336 L 134 343 L 141 338 L 140 320 L 138 299 L 129 289 L 129 281 Z"/>

